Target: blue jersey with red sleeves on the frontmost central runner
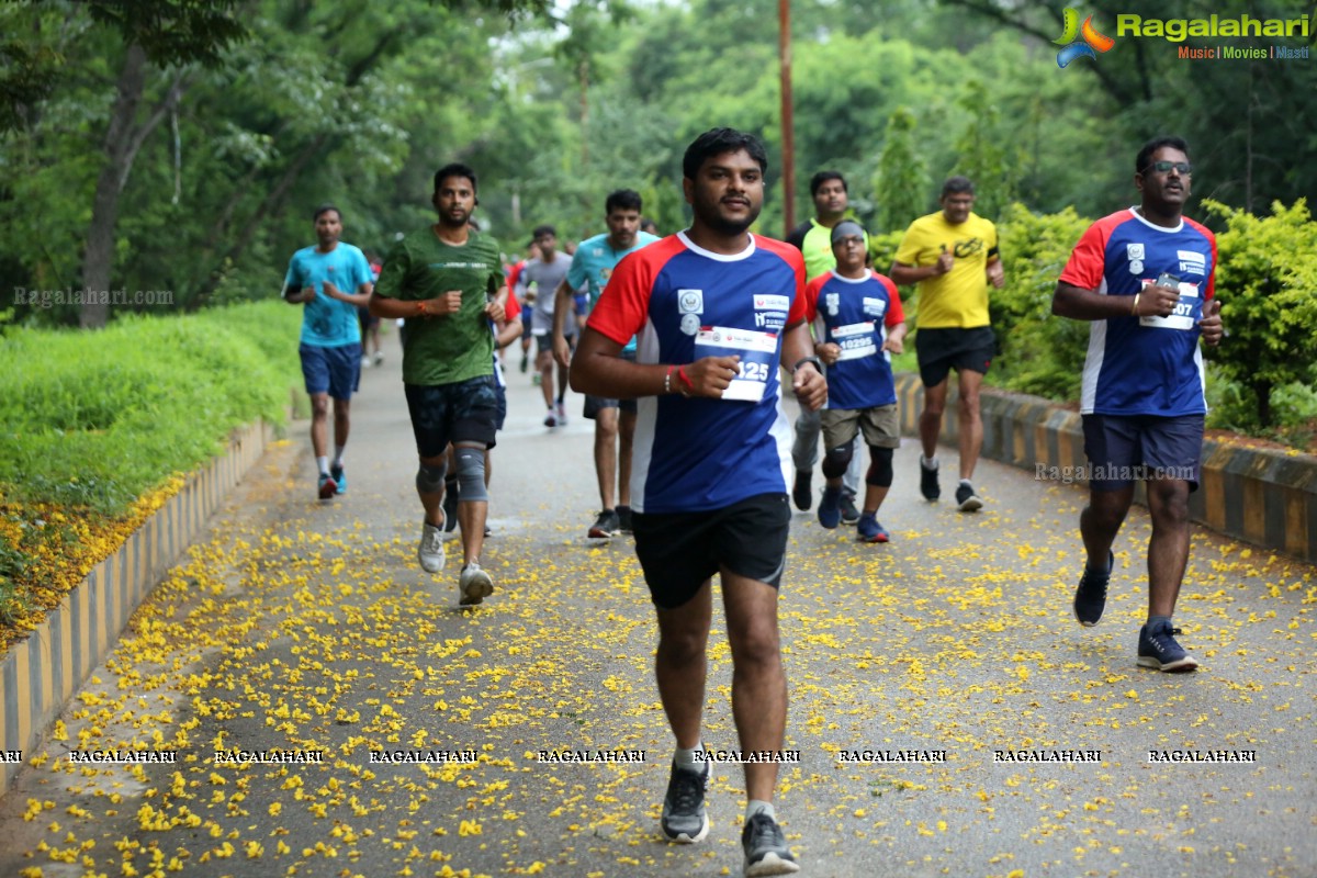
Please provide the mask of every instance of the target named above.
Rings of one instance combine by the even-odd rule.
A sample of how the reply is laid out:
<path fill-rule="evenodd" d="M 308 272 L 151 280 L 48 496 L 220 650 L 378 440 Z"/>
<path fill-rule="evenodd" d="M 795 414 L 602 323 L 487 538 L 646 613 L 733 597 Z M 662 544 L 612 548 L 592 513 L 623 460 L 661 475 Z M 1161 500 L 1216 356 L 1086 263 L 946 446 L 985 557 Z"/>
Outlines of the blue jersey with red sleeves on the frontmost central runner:
<path fill-rule="evenodd" d="M 591 329 L 619 345 L 636 336 L 637 363 L 740 357 L 723 399 L 637 400 L 632 508 L 695 512 L 786 492 L 792 430 L 777 373 L 782 332 L 805 320 L 803 290 L 801 251 L 760 236 L 723 255 L 681 232 L 618 263 Z"/>

